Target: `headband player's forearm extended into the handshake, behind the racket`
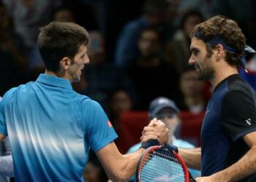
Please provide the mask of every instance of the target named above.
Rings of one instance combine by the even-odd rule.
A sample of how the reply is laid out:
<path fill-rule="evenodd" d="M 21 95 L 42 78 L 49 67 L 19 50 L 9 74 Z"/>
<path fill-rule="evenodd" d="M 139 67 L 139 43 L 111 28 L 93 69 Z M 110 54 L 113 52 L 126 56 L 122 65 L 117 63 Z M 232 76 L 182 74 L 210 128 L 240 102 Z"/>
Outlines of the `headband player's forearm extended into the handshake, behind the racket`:
<path fill-rule="evenodd" d="M 201 168 L 201 149 L 182 149 L 178 148 L 178 155 L 184 160 L 187 167 L 195 170 L 200 170 Z"/>

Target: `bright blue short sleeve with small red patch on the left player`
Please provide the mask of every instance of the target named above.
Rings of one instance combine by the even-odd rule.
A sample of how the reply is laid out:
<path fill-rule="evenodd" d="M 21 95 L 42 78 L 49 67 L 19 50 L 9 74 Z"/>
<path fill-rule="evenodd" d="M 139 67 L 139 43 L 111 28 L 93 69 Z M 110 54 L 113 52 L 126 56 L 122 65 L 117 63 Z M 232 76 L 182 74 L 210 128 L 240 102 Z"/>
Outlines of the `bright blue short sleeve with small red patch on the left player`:
<path fill-rule="evenodd" d="M 85 130 L 86 141 L 93 151 L 98 151 L 117 138 L 108 116 L 102 107 L 94 100 L 83 100 L 81 116 Z"/>

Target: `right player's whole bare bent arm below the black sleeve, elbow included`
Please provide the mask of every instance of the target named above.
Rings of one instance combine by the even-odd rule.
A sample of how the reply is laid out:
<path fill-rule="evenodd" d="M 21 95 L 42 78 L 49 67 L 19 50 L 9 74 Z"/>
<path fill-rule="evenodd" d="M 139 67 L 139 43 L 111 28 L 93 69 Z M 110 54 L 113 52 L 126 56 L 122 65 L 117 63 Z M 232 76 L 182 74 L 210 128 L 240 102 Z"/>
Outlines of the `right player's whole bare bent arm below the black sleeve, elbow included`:
<path fill-rule="evenodd" d="M 214 175 L 197 178 L 197 181 L 238 181 L 248 175 L 256 172 L 256 132 L 251 132 L 244 135 L 244 141 L 250 147 L 249 151 L 244 154 L 244 157 L 238 160 L 235 164 L 227 167 Z"/>

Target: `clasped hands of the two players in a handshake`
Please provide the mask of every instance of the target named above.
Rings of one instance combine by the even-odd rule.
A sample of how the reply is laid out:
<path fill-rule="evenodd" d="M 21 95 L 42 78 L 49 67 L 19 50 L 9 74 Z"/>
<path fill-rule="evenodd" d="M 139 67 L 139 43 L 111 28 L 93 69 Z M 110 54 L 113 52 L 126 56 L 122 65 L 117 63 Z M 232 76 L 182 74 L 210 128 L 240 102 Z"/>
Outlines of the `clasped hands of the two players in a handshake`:
<path fill-rule="evenodd" d="M 160 145 L 165 145 L 169 138 L 169 130 L 165 123 L 157 119 L 152 119 L 148 126 L 144 127 L 140 141 L 142 143 L 149 139 L 157 139 Z"/>

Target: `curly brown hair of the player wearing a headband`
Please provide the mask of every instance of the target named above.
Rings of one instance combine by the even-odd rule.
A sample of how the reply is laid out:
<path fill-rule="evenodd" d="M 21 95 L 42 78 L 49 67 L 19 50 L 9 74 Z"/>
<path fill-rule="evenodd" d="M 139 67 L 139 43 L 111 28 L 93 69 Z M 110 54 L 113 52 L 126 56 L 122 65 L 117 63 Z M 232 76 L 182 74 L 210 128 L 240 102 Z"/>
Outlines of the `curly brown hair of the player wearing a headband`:
<path fill-rule="evenodd" d="M 240 66 L 241 56 L 244 56 L 244 48 L 246 46 L 246 38 L 239 28 L 238 24 L 234 20 L 230 20 L 225 16 L 217 15 L 211 17 L 203 23 L 195 26 L 191 33 L 191 38 L 195 35 L 200 34 L 203 39 L 213 39 L 219 36 L 227 46 L 232 47 L 236 52 L 226 51 L 225 60 L 230 66 Z M 214 46 L 207 44 L 206 50 L 208 57 L 212 55 L 212 49 Z"/>

